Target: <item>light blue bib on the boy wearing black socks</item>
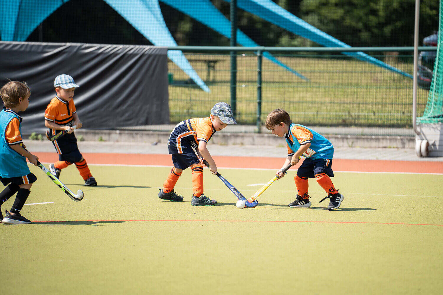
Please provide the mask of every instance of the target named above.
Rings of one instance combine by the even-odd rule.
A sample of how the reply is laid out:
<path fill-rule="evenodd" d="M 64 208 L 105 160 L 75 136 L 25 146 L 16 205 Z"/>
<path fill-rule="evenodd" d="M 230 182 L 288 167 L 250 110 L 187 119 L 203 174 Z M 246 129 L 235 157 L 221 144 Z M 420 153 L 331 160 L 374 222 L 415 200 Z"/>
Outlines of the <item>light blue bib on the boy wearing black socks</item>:
<path fill-rule="evenodd" d="M 6 139 L 7 128 L 12 119 L 17 118 L 19 120 L 19 134 L 12 144 L 21 144 L 22 134 L 22 117 L 11 109 L 4 108 L 0 112 L 0 176 L 4 178 L 21 177 L 31 173 L 26 163 L 26 157 L 20 155 L 14 151 Z"/>

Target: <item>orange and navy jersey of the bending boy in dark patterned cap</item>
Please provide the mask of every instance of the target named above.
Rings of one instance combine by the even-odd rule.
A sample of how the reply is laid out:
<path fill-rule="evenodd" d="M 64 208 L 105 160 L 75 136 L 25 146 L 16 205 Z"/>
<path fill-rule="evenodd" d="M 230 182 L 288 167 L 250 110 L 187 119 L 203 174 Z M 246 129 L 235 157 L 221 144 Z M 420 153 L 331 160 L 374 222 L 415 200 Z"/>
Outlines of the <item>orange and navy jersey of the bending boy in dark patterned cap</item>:
<path fill-rule="evenodd" d="M 184 120 L 175 126 L 169 136 L 169 153 L 183 154 L 185 147 L 197 148 L 198 141 L 207 143 L 214 133 L 215 129 L 209 117 Z"/>

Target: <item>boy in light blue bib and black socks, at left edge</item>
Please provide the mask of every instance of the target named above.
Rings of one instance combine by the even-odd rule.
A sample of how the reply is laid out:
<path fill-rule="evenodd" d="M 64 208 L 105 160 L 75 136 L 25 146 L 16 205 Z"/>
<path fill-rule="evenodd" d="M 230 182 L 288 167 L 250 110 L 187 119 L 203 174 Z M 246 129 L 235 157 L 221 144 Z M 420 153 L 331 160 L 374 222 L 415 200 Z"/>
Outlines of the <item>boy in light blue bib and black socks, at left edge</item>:
<path fill-rule="evenodd" d="M 0 89 L 4 104 L 0 111 L 0 181 L 6 186 L 0 193 L 0 221 L 5 224 L 31 223 L 29 219 L 20 215 L 31 192 L 32 183 L 37 180 L 29 171 L 26 158 L 35 166 L 39 158 L 25 149 L 21 135 L 22 117 L 18 115 L 27 109 L 30 95 L 31 90 L 22 82 L 10 81 Z M 1 205 L 15 193 L 16 200 L 11 211 L 5 210 L 6 215 L 3 218 Z"/>

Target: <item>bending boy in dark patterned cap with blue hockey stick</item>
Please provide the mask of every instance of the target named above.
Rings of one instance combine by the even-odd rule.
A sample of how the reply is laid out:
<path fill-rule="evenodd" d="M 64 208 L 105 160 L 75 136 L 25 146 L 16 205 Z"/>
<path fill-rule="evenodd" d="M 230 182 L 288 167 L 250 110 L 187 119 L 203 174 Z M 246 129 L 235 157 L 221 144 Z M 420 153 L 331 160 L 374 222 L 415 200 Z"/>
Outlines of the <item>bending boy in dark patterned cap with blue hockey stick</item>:
<path fill-rule="evenodd" d="M 218 102 L 211 109 L 210 117 L 184 120 L 172 130 L 167 142 L 169 153 L 172 155 L 171 172 L 159 189 L 159 198 L 175 202 L 183 201 L 183 197 L 174 191 L 175 183 L 179 180 L 183 170 L 191 167 L 192 170 L 192 206 L 214 206 L 217 201 L 210 200 L 203 194 L 203 160 L 209 163 L 209 170 L 217 174 L 217 166 L 212 159 L 206 145 L 215 132 L 221 131 L 228 124 L 237 124 L 233 117 L 231 106 L 225 102 Z M 195 155 L 197 151 L 197 155 Z M 203 157 L 199 160 L 200 157 Z"/>

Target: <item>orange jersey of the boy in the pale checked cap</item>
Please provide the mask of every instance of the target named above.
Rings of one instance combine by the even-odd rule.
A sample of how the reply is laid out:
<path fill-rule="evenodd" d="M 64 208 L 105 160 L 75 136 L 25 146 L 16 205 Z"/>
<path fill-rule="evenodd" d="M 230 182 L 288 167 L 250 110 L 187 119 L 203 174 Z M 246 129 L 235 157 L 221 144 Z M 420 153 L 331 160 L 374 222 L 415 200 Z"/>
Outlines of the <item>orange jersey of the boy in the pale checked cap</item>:
<path fill-rule="evenodd" d="M 72 126 L 72 115 L 75 113 L 77 109 L 72 99 L 64 101 L 56 95 L 46 107 L 45 120 L 62 126 Z"/>

